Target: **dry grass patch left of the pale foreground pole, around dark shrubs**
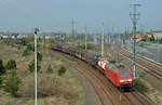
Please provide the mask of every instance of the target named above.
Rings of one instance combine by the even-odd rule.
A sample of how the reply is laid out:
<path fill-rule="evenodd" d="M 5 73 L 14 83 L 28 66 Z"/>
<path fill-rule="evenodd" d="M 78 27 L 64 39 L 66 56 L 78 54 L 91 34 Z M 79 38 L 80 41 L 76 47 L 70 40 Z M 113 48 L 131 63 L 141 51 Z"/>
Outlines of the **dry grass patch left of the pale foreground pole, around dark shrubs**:
<path fill-rule="evenodd" d="M 22 47 L 18 50 L 16 47 L 11 47 L 2 44 L 0 50 L 0 58 L 3 60 L 5 65 L 9 60 L 15 60 L 17 64 L 17 76 L 22 79 L 22 84 L 18 90 L 18 97 L 13 97 L 9 93 L 4 92 L 3 88 L 0 88 L 0 105 L 33 105 L 35 100 L 33 95 L 33 74 L 29 74 L 27 70 L 28 63 L 33 58 L 33 52 L 30 52 L 30 55 L 23 57 L 23 51 L 26 49 Z M 10 71 L 8 70 L 3 79 L 6 80 Z"/>

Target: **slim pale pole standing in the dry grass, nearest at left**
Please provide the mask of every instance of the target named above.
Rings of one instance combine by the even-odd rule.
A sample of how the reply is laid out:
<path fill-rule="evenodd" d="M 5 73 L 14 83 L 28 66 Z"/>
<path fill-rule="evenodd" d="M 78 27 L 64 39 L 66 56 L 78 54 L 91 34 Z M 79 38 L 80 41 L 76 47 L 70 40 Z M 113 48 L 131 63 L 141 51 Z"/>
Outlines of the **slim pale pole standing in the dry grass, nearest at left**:
<path fill-rule="evenodd" d="M 35 28 L 35 105 L 37 105 L 37 32 L 38 28 Z"/>

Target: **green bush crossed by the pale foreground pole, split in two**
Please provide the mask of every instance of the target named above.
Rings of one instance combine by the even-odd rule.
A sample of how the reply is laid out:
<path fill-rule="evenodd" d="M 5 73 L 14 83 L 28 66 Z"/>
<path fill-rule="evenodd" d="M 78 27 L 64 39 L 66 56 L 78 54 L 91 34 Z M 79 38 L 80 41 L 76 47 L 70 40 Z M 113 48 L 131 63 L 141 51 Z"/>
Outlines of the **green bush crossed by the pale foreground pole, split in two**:
<path fill-rule="evenodd" d="M 39 71 L 41 69 L 40 63 L 37 62 L 37 71 Z M 35 60 L 32 60 L 29 64 L 28 64 L 28 70 L 30 73 L 35 71 Z"/>

